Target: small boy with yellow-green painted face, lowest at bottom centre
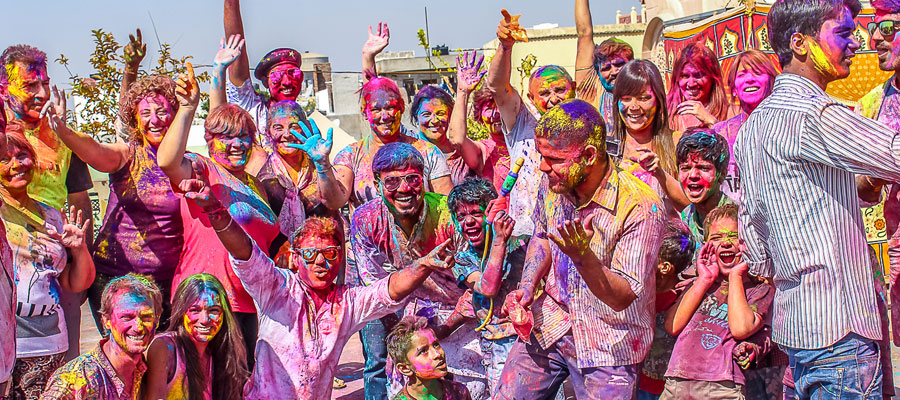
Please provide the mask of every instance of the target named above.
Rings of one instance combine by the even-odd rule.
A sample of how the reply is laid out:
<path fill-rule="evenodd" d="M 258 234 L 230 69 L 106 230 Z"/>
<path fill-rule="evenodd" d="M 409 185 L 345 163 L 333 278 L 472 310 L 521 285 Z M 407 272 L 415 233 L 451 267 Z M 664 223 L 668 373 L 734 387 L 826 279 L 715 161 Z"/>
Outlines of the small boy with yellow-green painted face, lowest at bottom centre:
<path fill-rule="evenodd" d="M 393 400 L 471 400 L 466 387 L 449 379 L 444 349 L 423 317 L 400 320 L 387 339 L 388 354 L 407 377 L 406 386 Z"/>

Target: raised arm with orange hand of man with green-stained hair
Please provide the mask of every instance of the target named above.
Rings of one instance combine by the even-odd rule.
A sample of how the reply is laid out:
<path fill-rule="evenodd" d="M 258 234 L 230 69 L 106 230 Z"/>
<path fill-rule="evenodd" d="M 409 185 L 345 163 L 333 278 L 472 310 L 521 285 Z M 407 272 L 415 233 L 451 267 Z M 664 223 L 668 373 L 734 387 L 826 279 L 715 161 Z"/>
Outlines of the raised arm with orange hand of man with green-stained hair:
<path fill-rule="evenodd" d="M 500 46 L 497 47 L 497 52 L 491 60 L 491 67 L 488 69 L 487 87 L 494 95 L 494 102 L 500 110 L 503 125 L 506 129 L 512 129 L 519 116 L 519 107 L 522 106 L 522 97 L 509 83 L 512 75 L 512 46 L 516 42 L 512 31 L 521 27 L 518 16 L 513 21 L 513 17 L 506 10 L 502 13 L 503 19 L 497 25 L 497 39 L 500 40 Z"/>

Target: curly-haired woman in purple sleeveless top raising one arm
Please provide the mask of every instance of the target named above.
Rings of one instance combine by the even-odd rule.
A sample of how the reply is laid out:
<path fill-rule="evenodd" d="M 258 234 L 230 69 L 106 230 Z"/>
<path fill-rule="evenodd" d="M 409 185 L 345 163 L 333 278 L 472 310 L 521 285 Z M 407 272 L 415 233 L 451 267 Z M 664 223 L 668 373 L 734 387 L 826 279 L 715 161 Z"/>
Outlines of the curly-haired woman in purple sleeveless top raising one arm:
<path fill-rule="evenodd" d="M 122 95 L 119 120 L 126 141 L 100 143 L 66 126 L 65 92 L 53 87 L 51 128 L 82 160 L 109 174 L 109 201 L 94 242 L 97 279 L 88 290 L 101 332 L 100 297 L 106 284 L 130 272 L 152 277 L 163 292 L 162 326 L 168 323 L 172 277 L 184 244 L 181 201 L 159 168 L 157 150 L 178 111 L 175 82 L 151 75 Z"/>

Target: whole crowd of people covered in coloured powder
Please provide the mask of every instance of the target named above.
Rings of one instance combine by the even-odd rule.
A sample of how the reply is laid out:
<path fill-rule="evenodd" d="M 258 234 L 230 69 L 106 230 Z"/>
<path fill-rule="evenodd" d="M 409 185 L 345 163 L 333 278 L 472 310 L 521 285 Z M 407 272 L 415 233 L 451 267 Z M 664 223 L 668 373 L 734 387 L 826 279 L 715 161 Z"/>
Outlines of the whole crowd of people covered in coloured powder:
<path fill-rule="evenodd" d="M 893 280 L 900 2 L 871 3 L 895 74 L 855 109 L 825 89 L 860 48 L 858 0 L 778 0 L 774 58 L 723 71 L 696 43 L 668 81 L 624 41 L 596 44 L 575 0 L 574 79 L 543 65 L 524 93 L 510 75 L 527 33 L 502 10 L 493 58 L 460 54 L 455 88 L 409 104 L 376 71 L 379 23 L 362 48 L 370 131 L 333 159 L 332 129 L 296 102 L 300 52 L 251 75 L 238 0 L 208 156 L 186 150 L 193 67 L 139 78 L 140 31 L 114 143 L 68 125 L 44 52 L 10 46 L 0 399 L 325 399 L 357 333 L 372 400 L 554 399 L 566 382 L 578 399 L 890 398 L 900 313 L 860 207 L 884 202 Z M 109 174 L 96 228 L 88 166 Z M 79 354 L 85 299 L 103 338 Z"/>

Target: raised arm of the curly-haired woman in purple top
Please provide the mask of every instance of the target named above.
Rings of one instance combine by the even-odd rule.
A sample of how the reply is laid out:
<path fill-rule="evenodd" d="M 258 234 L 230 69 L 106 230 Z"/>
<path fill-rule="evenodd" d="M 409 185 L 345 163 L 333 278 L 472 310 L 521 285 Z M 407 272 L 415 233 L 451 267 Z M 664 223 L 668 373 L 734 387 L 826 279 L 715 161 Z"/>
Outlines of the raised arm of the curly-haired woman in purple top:
<path fill-rule="evenodd" d="M 50 129 L 85 163 L 97 171 L 113 173 L 128 162 L 128 145 L 122 142 L 103 144 L 66 126 L 66 93 L 53 85 L 52 99 L 44 105 Z"/>

